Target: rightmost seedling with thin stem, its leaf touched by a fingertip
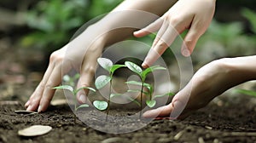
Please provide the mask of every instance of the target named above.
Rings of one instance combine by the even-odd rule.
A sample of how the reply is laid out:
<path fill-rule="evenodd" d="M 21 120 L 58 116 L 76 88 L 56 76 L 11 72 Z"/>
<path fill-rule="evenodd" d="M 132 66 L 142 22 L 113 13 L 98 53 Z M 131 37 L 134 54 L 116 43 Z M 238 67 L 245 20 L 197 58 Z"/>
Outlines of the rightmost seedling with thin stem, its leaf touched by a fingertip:
<path fill-rule="evenodd" d="M 165 67 L 162 67 L 162 66 L 151 66 L 151 67 L 148 67 L 147 69 L 145 69 L 143 71 L 143 69 L 140 67 L 140 66 L 137 66 L 137 64 L 131 62 L 131 61 L 125 61 L 125 66 L 127 66 L 132 72 L 135 72 L 137 73 L 137 75 L 140 77 L 141 79 L 141 102 L 140 102 L 140 106 L 141 106 L 141 112 L 140 112 L 140 117 L 142 117 L 142 111 L 143 111 L 143 87 L 145 85 L 148 85 L 147 83 L 145 83 L 145 80 L 148 76 L 148 74 L 150 72 L 154 72 L 156 70 L 166 70 Z M 147 87 L 147 86 L 146 86 Z M 153 102 L 153 101 L 152 101 Z M 148 102 L 149 103 L 149 102 Z M 153 103 L 150 103 L 153 105 Z"/>

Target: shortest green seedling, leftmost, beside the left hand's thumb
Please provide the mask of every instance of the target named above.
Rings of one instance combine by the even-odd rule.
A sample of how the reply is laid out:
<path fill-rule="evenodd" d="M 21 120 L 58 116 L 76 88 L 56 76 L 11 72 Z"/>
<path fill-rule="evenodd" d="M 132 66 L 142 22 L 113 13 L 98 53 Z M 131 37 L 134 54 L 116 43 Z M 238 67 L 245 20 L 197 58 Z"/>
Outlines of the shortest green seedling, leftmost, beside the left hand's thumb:
<path fill-rule="evenodd" d="M 66 90 L 70 91 L 73 94 L 73 102 L 74 102 L 73 122 L 74 123 L 76 123 L 76 118 L 77 118 L 75 112 L 77 112 L 79 110 L 79 108 L 89 107 L 88 104 L 78 105 L 77 98 L 76 98 L 78 92 L 81 89 L 89 89 L 90 91 L 96 92 L 95 89 L 90 88 L 90 87 L 82 87 L 82 88 L 79 88 L 79 89 L 73 89 L 73 87 L 70 86 L 70 85 L 61 85 L 61 86 L 57 86 L 53 89 L 66 89 Z"/>

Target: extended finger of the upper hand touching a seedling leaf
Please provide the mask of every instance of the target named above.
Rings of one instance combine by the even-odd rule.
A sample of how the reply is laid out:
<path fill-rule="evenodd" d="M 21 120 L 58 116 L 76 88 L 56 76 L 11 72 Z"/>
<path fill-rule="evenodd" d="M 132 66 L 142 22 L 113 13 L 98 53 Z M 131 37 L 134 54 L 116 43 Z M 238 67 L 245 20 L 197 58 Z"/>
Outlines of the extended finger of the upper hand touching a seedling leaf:
<path fill-rule="evenodd" d="M 143 61 L 143 67 L 151 66 L 156 60 L 163 54 L 166 49 L 172 44 L 177 37 L 178 32 L 174 27 L 169 25 L 161 37 L 158 37 L 156 43 L 153 44 L 153 48 L 149 50 L 145 60 Z"/>

